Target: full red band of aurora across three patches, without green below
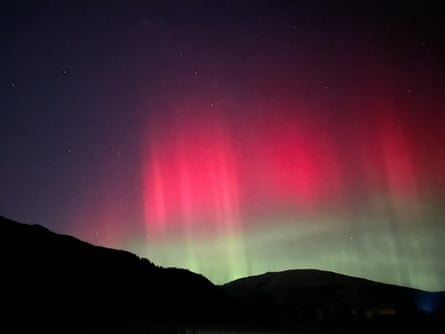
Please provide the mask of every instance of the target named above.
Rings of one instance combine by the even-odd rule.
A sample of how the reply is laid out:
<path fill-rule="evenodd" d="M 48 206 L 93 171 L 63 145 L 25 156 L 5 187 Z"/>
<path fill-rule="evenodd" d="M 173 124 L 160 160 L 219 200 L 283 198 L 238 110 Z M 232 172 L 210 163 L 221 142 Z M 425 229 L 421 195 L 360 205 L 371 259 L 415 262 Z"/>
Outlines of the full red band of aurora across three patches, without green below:
<path fill-rule="evenodd" d="M 218 232 L 246 218 L 320 212 L 357 191 L 414 199 L 417 171 L 407 127 L 395 109 L 375 114 L 355 120 L 344 146 L 338 133 L 313 130 L 298 112 L 257 118 L 239 133 L 217 112 L 170 116 L 151 132 L 145 161 L 149 233 Z"/>

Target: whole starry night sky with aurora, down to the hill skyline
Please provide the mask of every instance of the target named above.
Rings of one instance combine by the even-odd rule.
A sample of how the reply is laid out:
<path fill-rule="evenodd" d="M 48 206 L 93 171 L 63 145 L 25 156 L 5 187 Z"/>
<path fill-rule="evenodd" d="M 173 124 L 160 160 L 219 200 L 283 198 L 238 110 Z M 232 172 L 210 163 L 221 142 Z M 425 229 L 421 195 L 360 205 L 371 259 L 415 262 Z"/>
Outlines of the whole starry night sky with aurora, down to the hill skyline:
<path fill-rule="evenodd" d="M 2 1 L 0 214 L 445 290 L 445 23 L 407 2 Z"/>

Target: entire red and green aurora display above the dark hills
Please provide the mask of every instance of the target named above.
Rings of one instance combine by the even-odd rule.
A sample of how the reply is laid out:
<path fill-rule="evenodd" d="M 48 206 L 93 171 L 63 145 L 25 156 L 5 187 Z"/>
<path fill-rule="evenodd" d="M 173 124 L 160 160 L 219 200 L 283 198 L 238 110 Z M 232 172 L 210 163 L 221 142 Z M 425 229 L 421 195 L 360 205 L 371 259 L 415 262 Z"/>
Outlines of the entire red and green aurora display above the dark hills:
<path fill-rule="evenodd" d="M 353 116 L 347 145 L 298 109 L 246 111 L 255 122 L 239 132 L 223 112 L 169 115 L 144 164 L 145 254 L 218 283 L 315 267 L 440 286 L 427 240 L 443 230 L 424 222 L 422 162 L 389 105 Z"/>

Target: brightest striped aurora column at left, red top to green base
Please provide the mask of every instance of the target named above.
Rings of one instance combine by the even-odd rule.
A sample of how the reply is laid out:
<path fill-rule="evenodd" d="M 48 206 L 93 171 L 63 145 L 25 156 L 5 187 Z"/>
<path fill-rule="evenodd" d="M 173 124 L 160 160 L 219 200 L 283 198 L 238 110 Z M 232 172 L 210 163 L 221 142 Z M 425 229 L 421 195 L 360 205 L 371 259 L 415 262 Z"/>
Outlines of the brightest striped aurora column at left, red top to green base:
<path fill-rule="evenodd" d="M 226 277 L 245 274 L 239 176 L 225 129 L 216 120 L 175 122 L 157 138 L 161 143 L 148 153 L 144 169 L 148 243 L 157 245 L 173 234 L 184 266 L 202 271 L 210 252 L 227 268 Z M 199 251 L 199 238 L 218 246 Z"/>

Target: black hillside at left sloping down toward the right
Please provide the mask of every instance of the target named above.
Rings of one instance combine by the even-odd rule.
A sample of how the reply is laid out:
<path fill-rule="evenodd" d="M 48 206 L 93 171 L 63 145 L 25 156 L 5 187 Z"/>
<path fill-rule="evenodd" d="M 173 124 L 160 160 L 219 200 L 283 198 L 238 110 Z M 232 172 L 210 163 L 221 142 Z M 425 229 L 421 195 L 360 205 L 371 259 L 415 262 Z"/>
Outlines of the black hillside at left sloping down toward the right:
<path fill-rule="evenodd" d="M 164 269 L 0 217 L 2 316 L 33 321 L 212 322 L 236 317 L 201 275 Z"/>

